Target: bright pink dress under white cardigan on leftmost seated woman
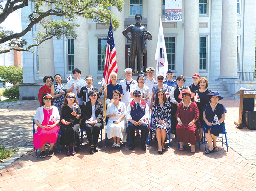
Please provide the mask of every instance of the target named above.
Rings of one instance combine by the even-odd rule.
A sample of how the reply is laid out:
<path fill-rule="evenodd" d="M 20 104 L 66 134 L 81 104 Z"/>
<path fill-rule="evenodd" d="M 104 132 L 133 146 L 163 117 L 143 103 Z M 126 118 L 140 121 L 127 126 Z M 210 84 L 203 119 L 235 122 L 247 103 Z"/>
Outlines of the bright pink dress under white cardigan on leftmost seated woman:
<path fill-rule="evenodd" d="M 44 119 L 42 125 L 52 125 L 54 122 L 49 121 L 50 115 L 52 114 L 52 109 L 49 110 L 49 113 L 46 109 L 43 109 Z M 47 130 L 37 127 L 37 133 L 34 134 L 34 147 L 39 149 L 45 143 L 55 143 L 58 138 L 59 125 L 57 124 L 54 128 Z"/>

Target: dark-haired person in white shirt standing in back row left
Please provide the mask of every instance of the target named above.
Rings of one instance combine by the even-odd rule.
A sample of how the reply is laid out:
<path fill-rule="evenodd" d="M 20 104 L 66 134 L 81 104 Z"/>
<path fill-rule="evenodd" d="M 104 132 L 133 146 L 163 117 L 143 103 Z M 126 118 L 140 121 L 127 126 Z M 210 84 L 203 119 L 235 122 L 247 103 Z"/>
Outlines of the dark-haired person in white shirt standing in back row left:
<path fill-rule="evenodd" d="M 74 78 L 70 81 L 67 82 L 66 85 L 66 92 L 67 93 L 74 93 L 75 97 L 78 101 L 78 105 L 80 106 L 80 108 L 82 108 L 83 105 L 83 98 L 78 98 L 77 97 L 77 91 L 80 92 L 81 88 L 84 87 L 85 85 L 87 85 L 86 81 L 84 79 L 81 79 L 81 71 L 78 68 L 75 68 L 74 70 L 72 70 L 72 73 L 74 75 Z"/>

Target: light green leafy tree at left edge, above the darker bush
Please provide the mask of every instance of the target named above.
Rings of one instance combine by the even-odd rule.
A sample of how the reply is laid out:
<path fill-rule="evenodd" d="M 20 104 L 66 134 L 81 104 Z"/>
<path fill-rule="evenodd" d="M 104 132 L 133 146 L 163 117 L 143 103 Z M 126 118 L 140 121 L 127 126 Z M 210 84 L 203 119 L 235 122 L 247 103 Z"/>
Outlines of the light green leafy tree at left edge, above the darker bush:
<path fill-rule="evenodd" d="M 0 78 L 16 86 L 18 82 L 23 82 L 23 68 L 0 66 Z"/>

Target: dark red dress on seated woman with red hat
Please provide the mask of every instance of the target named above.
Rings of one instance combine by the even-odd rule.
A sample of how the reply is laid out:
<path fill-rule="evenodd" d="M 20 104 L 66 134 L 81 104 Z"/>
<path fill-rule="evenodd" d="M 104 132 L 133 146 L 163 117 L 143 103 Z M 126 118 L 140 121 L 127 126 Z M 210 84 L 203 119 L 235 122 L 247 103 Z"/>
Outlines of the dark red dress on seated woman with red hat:
<path fill-rule="evenodd" d="M 184 110 L 187 109 L 187 110 Z M 199 119 L 199 110 L 195 102 L 191 102 L 190 106 L 187 108 L 184 106 L 183 103 L 180 103 L 175 117 L 179 117 L 182 121 L 182 126 L 177 124 L 176 127 L 176 136 L 178 142 L 187 142 L 191 145 L 195 145 L 196 142 L 200 140 L 199 132 L 196 127 L 196 123 L 192 125 L 192 127 L 188 127 L 188 124 L 192 120 Z"/>

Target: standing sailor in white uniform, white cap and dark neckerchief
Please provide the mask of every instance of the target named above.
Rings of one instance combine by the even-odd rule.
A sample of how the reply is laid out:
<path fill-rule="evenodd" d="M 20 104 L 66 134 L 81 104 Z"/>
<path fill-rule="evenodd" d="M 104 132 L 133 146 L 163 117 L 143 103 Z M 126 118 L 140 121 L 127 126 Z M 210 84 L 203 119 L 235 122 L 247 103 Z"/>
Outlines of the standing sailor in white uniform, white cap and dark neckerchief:
<path fill-rule="evenodd" d="M 125 103 L 127 107 L 128 104 L 130 104 L 130 102 L 132 101 L 130 93 L 132 93 L 136 89 L 138 83 L 136 82 L 136 80 L 133 80 L 131 78 L 132 77 L 131 68 L 125 69 L 125 75 L 126 75 L 126 78 L 120 81 L 120 84 L 122 85 L 123 92 L 124 92 L 121 102 Z"/>

